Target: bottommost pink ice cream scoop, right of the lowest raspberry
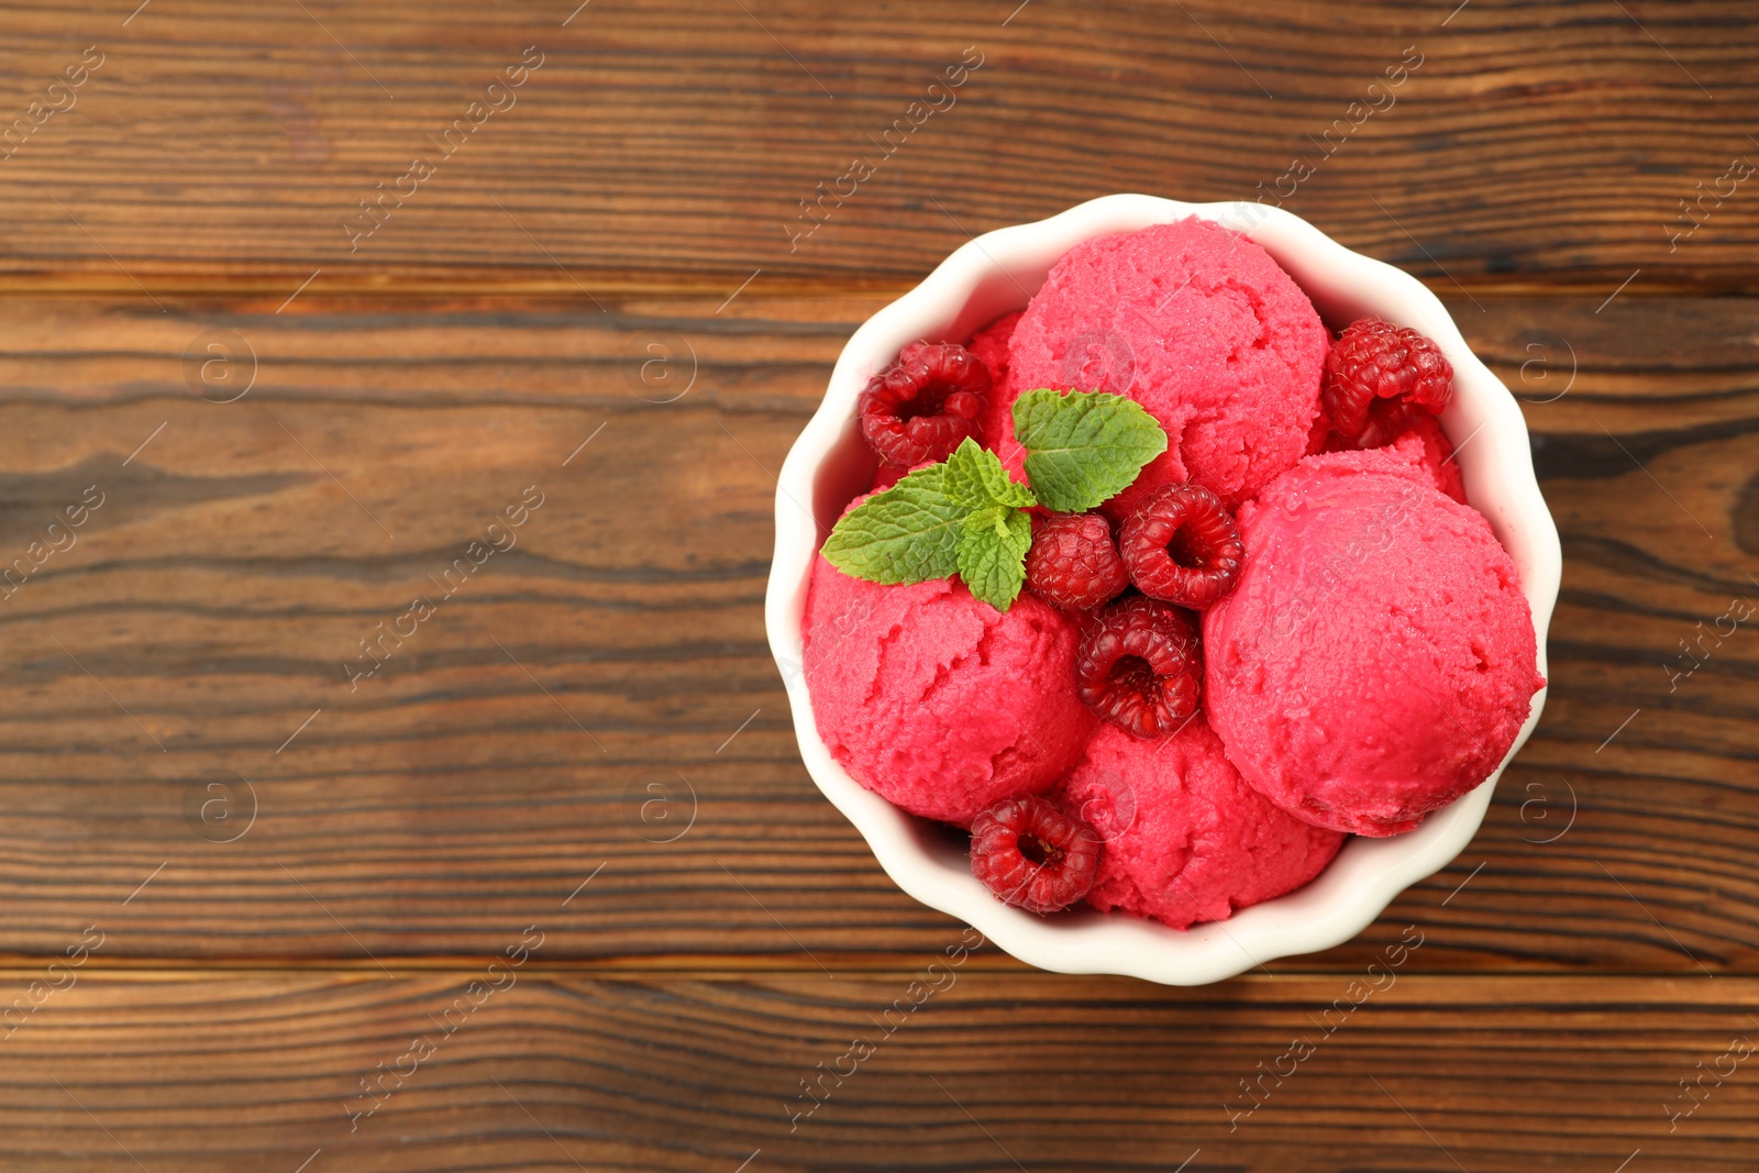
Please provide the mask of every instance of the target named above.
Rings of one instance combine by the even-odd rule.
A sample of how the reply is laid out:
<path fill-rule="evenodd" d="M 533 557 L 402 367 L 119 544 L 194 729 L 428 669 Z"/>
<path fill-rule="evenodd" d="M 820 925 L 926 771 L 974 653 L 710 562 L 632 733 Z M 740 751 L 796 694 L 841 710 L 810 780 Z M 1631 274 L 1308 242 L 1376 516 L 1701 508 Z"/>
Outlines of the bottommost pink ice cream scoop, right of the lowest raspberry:
<path fill-rule="evenodd" d="M 1087 902 L 1173 929 L 1293 892 L 1344 844 L 1247 786 L 1201 718 L 1152 740 L 1101 725 L 1061 798 L 1106 841 Z"/>

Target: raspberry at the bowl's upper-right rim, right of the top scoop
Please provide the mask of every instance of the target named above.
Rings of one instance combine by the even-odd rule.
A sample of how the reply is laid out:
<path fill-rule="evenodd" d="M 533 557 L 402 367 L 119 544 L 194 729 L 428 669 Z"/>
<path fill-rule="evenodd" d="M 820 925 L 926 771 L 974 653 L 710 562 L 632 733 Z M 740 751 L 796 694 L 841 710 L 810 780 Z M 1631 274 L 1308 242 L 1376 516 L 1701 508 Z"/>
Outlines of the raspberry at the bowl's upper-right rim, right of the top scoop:
<path fill-rule="evenodd" d="M 1332 343 L 1319 401 L 1339 436 L 1379 448 L 1409 429 L 1418 412 L 1441 415 L 1453 394 L 1453 366 L 1416 331 L 1356 318 Z"/>

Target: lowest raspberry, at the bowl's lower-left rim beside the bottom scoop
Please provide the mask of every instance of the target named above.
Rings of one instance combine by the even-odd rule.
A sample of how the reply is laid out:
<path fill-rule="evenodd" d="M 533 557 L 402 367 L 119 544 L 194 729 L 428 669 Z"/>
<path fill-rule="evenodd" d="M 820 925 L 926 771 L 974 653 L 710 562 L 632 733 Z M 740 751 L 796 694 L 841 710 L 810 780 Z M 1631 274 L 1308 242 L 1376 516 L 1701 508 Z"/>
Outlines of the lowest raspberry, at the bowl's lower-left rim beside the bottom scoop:
<path fill-rule="evenodd" d="M 1103 849 L 1099 832 L 1040 795 L 1003 798 L 971 820 L 971 874 L 1027 913 L 1087 895 Z"/>

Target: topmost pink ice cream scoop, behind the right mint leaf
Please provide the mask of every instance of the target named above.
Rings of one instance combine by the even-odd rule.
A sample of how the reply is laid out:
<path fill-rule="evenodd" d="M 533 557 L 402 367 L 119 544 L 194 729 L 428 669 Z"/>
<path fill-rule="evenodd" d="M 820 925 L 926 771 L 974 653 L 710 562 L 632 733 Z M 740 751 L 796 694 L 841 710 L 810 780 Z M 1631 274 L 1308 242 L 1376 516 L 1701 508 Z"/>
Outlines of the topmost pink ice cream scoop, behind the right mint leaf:
<path fill-rule="evenodd" d="M 1173 480 L 1230 508 L 1307 452 L 1330 334 L 1263 248 L 1200 218 L 1071 248 L 1008 343 L 1006 403 L 1025 390 L 1110 390 L 1166 429 L 1168 450 L 1103 508 L 1135 510 Z M 1011 417 L 992 438 L 1020 475 Z"/>

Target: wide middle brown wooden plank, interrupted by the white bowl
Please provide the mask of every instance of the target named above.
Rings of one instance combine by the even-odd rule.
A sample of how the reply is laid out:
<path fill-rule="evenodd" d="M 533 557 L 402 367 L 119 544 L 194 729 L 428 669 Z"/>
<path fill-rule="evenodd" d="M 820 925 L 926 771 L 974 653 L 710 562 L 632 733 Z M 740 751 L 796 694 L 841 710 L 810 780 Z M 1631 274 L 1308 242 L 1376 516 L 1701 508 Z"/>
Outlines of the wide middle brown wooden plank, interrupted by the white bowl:
<path fill-rule="evenodd" d="M 716 306 L 12 304 L 5 557 L 106 496 L 0 601 L 0 950 L 104 923 L 111 958 L 487 955 L 600 865 L 547 957 L 843 969 L 936 948 L 952 923 L 806 777 L 762 630 L 770 475 L 876 302 Z M 1759 302 L 1595 306 L 1455 306 L 1530 401 L 1569 552 L 1546 719 L 1448 872 L 1279 973 L 1360 969 L 1412 920 L 1446 927 L 1428 957 L 1455 969 L 1759 967 L 1759 652 L 1741 626 L 1671 693 L 1662 667 L 1759 598 Z M 209 331 L 257 355 L 236 403 L 185 382 Z M 695 355 L 674 403 L 681 383 L 639 378 L 649 345 L 679 380 Z M 517 547 L 350 691 L 359 640 L 531 484 Z M 675 802 L 644 823 L 649 783 Z"/>

